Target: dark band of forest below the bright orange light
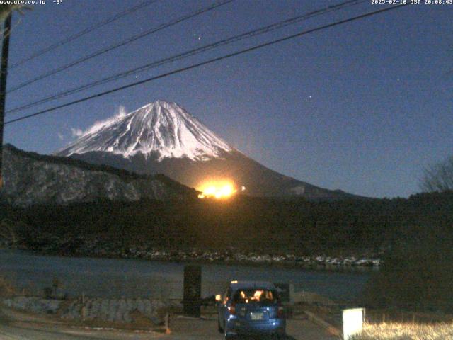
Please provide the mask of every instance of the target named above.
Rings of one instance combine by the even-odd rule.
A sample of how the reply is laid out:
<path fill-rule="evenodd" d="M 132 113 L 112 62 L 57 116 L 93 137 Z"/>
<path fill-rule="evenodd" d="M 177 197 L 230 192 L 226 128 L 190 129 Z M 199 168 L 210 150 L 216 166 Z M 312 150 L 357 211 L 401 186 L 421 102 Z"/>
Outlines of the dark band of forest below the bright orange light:
<path fill-rule="evenodd" d="M 452 225 L 453 193 L 333 202 L 247 196 L 133 203 L 100 199 L 64 206 L 3 205 L 0 219 L 20 226 L 18 236 L 32 247 L 46 237 L 96 237 L 165 249 L 233 246 L 308 255 L 378 254 L 408 245 L 420 228 L 445 233 Z"/>

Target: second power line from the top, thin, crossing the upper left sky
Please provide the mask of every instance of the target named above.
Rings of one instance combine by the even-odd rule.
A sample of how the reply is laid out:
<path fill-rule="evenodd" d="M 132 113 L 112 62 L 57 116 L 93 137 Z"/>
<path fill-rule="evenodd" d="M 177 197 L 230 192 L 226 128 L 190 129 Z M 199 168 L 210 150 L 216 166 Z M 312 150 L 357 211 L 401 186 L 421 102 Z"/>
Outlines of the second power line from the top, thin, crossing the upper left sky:
<path fill-rule="evenodd" d="M 207 7 L 204 7 L 204 8 L 200 8 L 199 10 L 197 10 L 197 11 L 195 11 L 193 13 L 190 13 L 188 15 L 182 16 L 180 18 L 176 18 L 173 21 L 170 21 L 168 23 L 163 23 L 163 24 L 157 26 L 156 28 L 151 28 L 150 30 L 145 31 L 144 33 L 139 33 L 137 35 L 133 35 L 132 37 L 127 38 L 126 40 L 123 40 L 122 42 L 118 42 L 118 43 L 116 43 L 114 45 L 110 45 L 109 47 L 106 47 L 103 50 L 98 50 L 96 52 L 91 53 L 91 55 L 86 55 L 85 57 L 81 57 L 78 60 L 74 60 L 74 62 L 69 62 L 68 64 L 65 64 L 65 65 L 63 65 L 61 67 L 57 67 L 56 69 L 52 69 L 52 71 L 50 71 L 50 72 L 47 72 L 45 74 L 40 74 L 38 77 L 35 77 L 35 78 L 30 79 L 28 81 L 24 81 L 23 83 L 21 83 L 21 84 L 15 86 L 15 87 L 13 87 L 12 89 L 10 89 L 8 91 L 8 93 L 11 93 L 11 92 L 16 91 L 18 89 L 22 89 L 25 86 L 33 84 L 35 81 L 50 77 L 53 74 L 57 74 L 59 72 L 62 72 L 64 70 L 66 70 L 66 69 L 69 69 L 70 67 L 73 67 L 73 66 L 75 66 L 77 64 L 80 64 L 81 62 L 86 62 L 87 60 L 90 60 L 90 59 L 92 59 L 94 57 L 98 57 L 99 55 L 103 55 L 106 52 L 110 52 L 111 50 L 115 50 L 118 47 L 122 47 L 124 45 L 127 45 L 130 42 L 134 42 L 135 40 L 139 40 L 140 38 L 144 38 L 147 35 L 151 35 L 152 33 L 159 32 L 159 30 L 163 30 L 164 28 L 168 28 L 170 26 L 176 25 L 177 23 L 181 23 L 181 22 L 186 21 L 186 20 L 188 20 L 190 18 L 193 18 L 195 16 L 199 16 L 202 13 L 206 13 L 208 11 L 212 11 L 213 9 L 215 9 L 217 7 L 224 6 L 224 5 L 229 4 L 230 2 L 233 2 L 233 1 L 234 0 L 220 0 L 217 3 L 212 4 L 210 6 L 207 6 Z"/>

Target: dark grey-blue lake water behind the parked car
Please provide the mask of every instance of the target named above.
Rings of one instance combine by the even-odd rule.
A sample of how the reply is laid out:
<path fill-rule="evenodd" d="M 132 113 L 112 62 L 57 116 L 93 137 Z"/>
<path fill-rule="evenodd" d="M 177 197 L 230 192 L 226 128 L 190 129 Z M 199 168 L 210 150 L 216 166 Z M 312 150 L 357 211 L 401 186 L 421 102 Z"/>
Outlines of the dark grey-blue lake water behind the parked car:
<path fill-rule="evenodd" d="M 39 293 L 57 278 L 71 296 L 168 297 L 183 296 L 184 263 L 137 259 L 94 259 L 43 256 L 0 249 L 0 276 L 19 288 Z M 202 265 L 202 295 L 223 293 L 228 280 L 268 280 L 293 283 L 294 290 L 319 293 L 339 301 L 354 301 L 371 273 L 313 271 L 275 266 Z"/>

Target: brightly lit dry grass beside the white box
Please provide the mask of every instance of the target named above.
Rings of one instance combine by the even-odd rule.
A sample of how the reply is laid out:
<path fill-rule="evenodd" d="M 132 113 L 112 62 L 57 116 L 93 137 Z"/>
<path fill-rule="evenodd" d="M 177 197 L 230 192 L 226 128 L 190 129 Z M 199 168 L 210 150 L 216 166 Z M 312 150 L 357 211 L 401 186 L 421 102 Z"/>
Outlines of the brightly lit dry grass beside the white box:
<path fill-rule="evenodd" d="M 413 324 L 382 322 L 365 324 L 354 340 L 449 340 L 453 339 L 453 322 L 436 324 Z"/>

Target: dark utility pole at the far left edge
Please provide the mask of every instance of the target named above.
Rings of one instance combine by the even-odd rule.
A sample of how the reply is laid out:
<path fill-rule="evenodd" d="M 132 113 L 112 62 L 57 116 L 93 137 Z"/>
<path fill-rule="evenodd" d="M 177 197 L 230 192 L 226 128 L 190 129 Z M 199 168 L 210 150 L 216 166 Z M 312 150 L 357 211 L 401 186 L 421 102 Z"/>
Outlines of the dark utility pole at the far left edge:
<path fill-rule="evenodd" d="M 3 131 L 5 126 L 5 100 L 6 100 L 6 76 L 8 76 L 8 52 L 9 52 L 9 35 L 11 34 L 11 16 L 9 13 L 5 20 L 3 30 L 3 45 L 1 47 L 1 65 L 0 65 L 0 193 L 3 188 L 2 161 L 3 161 Z"/>

